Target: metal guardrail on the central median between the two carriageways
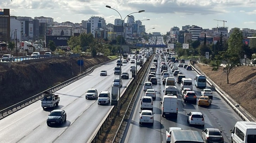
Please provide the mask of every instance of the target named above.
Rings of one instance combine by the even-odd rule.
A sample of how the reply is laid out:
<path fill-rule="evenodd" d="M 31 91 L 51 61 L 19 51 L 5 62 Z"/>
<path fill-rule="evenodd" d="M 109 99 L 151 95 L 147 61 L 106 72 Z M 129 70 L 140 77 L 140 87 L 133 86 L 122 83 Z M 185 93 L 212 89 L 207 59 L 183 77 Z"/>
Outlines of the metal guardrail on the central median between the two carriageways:
<path fill-rule="evenodd" d="M 140 68 L 138 70 L 141 71 L 142 68 Z M 121 94 L 121 98 L 120 100 L 122 101 L 123 98 L 124 98 L 124 95 L 126 95 L 127 91 L 130 89 L 130 83 L 135 81 L 135 79 L 133 78 L 132 81 L 130 81 L 128 83 L 128 87 L 122 92 Z M 109 118 L 113 115 L 114 111 L 117 109 L 117 106 L 112 106 L 111 107 L 111 110 L 109 110 L 108 114 L 106 114 L 106 116 L 104 117 L 104 119 L 102 120 L 102 122 L 98 125 L 97 129 L 93 132 L 92 136 L 89 138 L 89 140 L 87 141 L 87 143 L 96 143 L 97 142 L 97 139 L 99 137 L 99 135 L 102 134 L 102 131 L 103 131 L 103 128 L 106 127 L 106 124 L 108 124 L 109 122 Z M 125 113 L 126 114 L 126 113 Z M 123 122 L 123 120 L 122 120 Z M 119 128 L 118 128 L 119 129 Z M 120 130 L 120 129 L 119 129 Z"/>

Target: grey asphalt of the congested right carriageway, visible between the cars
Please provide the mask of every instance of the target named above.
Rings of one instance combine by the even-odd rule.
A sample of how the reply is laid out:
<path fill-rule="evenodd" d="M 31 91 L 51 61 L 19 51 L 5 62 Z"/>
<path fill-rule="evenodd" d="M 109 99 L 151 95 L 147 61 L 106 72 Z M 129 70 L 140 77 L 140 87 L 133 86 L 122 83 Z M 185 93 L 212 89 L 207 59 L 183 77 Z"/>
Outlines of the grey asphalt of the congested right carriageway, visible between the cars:
<path fill-rule="evenodd" d="M 165 57 L 166 58 L 166 57 Z M 159 58 L 160 59 L 160 58 Z M 188 63 L 188 61 L 186 61 Z M 178 63 L 175 63 L 178 64 Z M 232 108 L 227 105 L 227 103 L 216 93 L 214 92 L 214 97 L 212 100 L 212 105 L 210 107 L 199 107 L 197 104 L 193 103 L 184 103 L 182 96 L 180 95 L 180 84 L 176 83 L 176 87 L 179 91 L 178 94 L 178 117 L 175 118 L 164 118 L 161 116 L 161 107 L 160 101 L 162 101 L 164 85 L 162 84 L 162 76 L 160 74 L 160 61 L 158 61 L 157 69 L 157 79 L 158 85 L 154 85 L 153 89 L 157 91 L 157 98 L 153 101 L 153 112 L 154 124 L 151 125 L 139 125 L 139 112 L 140 102 L 135 103 L 130 120 L 126 126 L 121 143 L 161 143 L 166 142 L 166 131 L 169 127 L 180 127 L 182 129 L 196 130 L 200 134 L 205 128 L 219 128 L 223 131 L 222 135 L 224 136 L 224 141 L 226 143 L 231 142 L 230 129 L 234 128 L 234 125 L 237 121 L 242 121 L 242 119 L 232 110 Z M 196 76 L 196 71 L 186 70 L 179 67 L 178 70 L 186 76 L 186 78 L 191 78 L 193 80 L 193 91 L 197 94 L 197 99 L 201 96 L 201 89 L 194 86 L 194 78 Z M 171 69 L 168 67 L 169 74 L 171 74 Z M 171 77 L 173 75 L 171 74 Z M 175 77 L 176 79 L 176 77 Z M 207 84 L 207 88 L 211 88 Z M 211 88 L 212 89 L 212 88 Z M 213 89 L 212 89 L 213 90 Z M 213 90 L 214 91 L 214 90 Z M 145 95 L 145 91 L 141 90 L 140 97 L 137 101 Z M 205 118 L 205 127 L 193 126 L 190 127 L 187 123 L 187 113 L 191 111 L 199 111 L 204 115 Z"/>

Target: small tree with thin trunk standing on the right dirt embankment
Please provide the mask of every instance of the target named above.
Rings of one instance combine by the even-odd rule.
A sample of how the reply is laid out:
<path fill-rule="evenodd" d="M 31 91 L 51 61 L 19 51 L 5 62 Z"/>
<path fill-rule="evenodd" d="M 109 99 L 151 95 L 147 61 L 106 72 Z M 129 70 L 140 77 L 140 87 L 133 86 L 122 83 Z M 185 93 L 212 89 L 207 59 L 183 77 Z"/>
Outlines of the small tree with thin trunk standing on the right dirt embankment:
<path fill-rule="evenodd" d="M 223 72 L 227 75 L 227 84 L 229 84 L 228 76 L 230 74 L 230 71 L 232 71 L 233 68 L 236 67 L 236 65 L 239 63 L 239 57 L 238 54 L 235 54 L 229 50 L 219 52 L 219 54 L 215 57 L 215 60 L 217 61 L 217 64 L 213 64 L 213 70 L 217 71 L 219 69 L 219 64 L 223 63 Z"/>

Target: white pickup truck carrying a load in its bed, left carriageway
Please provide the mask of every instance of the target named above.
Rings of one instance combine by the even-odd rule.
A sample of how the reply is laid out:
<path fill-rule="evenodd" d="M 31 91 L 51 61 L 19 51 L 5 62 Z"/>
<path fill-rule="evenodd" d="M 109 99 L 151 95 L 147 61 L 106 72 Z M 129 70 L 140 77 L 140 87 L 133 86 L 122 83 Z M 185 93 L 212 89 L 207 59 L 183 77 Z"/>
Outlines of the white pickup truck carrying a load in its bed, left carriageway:
<path fill-rule="evenodd" d="M 59 95 L 55 95 L 54 93 L 45 91 L 41 101 L 42 101 L 41 106 L 42 106 L 43 110 L 45 107 L 46 108 L 47 107 L 55 108 L 55 106 L 59 105 L 60 97 L 59 97 Z"/>

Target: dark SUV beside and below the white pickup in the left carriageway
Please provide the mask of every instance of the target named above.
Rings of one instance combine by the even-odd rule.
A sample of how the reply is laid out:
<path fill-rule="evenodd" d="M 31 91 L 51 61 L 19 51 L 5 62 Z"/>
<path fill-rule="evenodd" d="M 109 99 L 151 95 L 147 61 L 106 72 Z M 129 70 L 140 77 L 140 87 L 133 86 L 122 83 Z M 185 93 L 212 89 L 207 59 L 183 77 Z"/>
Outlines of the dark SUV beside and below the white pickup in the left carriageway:
<path fill-rule="evenodd" d="M 48 117 L 46 119 L 47 125 L 51 124 L 62 124 L 63 122 L 67 121 L 67 114 L 65 110 L 57 109 L 53 110 L 48 114 Z"/>

